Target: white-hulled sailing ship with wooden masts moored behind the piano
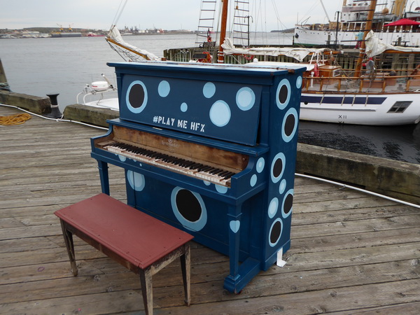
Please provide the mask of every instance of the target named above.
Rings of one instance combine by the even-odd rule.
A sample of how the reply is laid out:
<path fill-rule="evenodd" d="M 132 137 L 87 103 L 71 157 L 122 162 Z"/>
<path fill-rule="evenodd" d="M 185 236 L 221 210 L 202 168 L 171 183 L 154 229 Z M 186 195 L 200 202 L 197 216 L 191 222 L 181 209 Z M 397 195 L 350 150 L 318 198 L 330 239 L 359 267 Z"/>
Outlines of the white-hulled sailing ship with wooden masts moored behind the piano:
<path fill-rule="evenodd" d="M 420 67 L 416 66 L 416 54 L 419 48 L 404 48 L 386 45 L 372 32 L 374 12 L 377 0 L 370 2 L 367 10 L 363 39 L 360 41 L 360 52 L 356 70 L 350 73 L 335 62 L 332 50 L 321 48 L 250 48 L 236 47 L 232 39 L 226 37 L 226 20 L 228 0 L 223 1 L 222 24 L 219 45 L 211 38 L 211 29 L 204 33 L 204 41 L 197 41 L 197 49 L 193 53 L 195 62 L 226 62 L 227 56 L 239 56 L 246 62 L 244 66 L 267 66 L 265 61 L 257 61 L 255 57 L 286 55 L 295 57 L 296 62 L 279 63 L 279 67 L 290 69 L 307 67 L 302 85 L 300 119 L 325 123 L 345 123 L 356 125 L 410 125 L 420 121 Z M 203 1 L 207 4 L 209 1 Z M 216 1 L 211 1 L 216 2 Z M 246 1 L 235 1 L 235 8 Z M 216 3 L 212 3 L 216 4 Z M 207 9 L 206 9 L 207 10 Z M 208 10 L 207 10 L 208 11 Z M 216 12 L 216 10 L 214 10 Z M 207 19 L 207 18 L 206 18 Z M 201 18 L 200 18 L 201 20 Z M 205 20 L 204 18 L 202 20 Z M 200 33 L 201 34 L 201 33 Z M 112 36 L 112 37 L 111 37 Z M 142 57 L 148 60 L 160 60 L 146 50 L 139 50 L 124 43 L 118 37 L 116 28 L 110 31 L 107 41 L 125 48 L 125 55 Z M 395 53 L 395 58 L 408 54 L 405 69 L 381 69 L 381 54 Z M 214 54 L 216 53 L 216 57 Z M 123 55 L 120 52 L 120 55 Z M 248 56 L 248 57 L 246 57 Z M 128 57 L 133 58 L 133 57 Z M 306 60 L 302 63 L 302 60 Z M 127 60 L 127 59 L 126 59 Z M 128 59 L 135 61 L 135 59 Z M 365 64 L 365 67 L 363 65 Z M 272 66 L 273 62 L 269 62 Z"/>

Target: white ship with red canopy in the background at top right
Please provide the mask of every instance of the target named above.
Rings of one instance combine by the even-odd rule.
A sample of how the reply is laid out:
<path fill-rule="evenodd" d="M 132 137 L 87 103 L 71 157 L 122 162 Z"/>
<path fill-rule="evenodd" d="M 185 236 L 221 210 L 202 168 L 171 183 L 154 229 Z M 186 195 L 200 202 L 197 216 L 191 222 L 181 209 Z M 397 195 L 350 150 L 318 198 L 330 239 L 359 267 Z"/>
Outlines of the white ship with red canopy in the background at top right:
<path fill-rule="evenodd" d="M 320 0 L 322 3 L 322 0 Z M 295 25 L 293 43 L 297 45 L 342 45 L 355 47 L 367 25 L 369 0 L 344 0 L 341 15 L 328 24 Z M 381 1 L 372 18 L 372 30 L 390 45 L 420 45 L 420 8 L 405 10 L 407 0 Z M 341 18 L 340 18 L 341 16 Z"/>

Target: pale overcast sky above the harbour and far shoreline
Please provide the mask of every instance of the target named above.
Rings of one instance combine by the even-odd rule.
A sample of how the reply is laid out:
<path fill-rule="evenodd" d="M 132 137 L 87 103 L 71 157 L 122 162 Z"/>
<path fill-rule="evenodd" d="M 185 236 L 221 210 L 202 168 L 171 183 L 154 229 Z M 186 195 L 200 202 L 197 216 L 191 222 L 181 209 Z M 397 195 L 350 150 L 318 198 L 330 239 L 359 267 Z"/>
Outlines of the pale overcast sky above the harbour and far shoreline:
<path fill-rule="evenodd" d="M 123 0 L 124 2 L 125 0 Z M 234 0 L 230 0 L 230 3 Z M 250 0 L 266 12 L 267 18 L 253 17 L 254 25 L 266 31 L 286 29 L 297 20 L 328 22 L 320 0 Z M 390 1 L 391 2 L 391 1 Z M 419 1 L 414 1 L 419 2 Z M 109 29 L 121 0 L 0 0 L 0 29 L 25 27 L 63 27 Z M 118 27 L 139 29 L 197 29 L 201 0 L 128 0 Z M 273 8 L 273 3 L 276 9 Z M 341 11 L 342 0 L 323 0 L 330 20 Z M 258 30 L 262 30 L 259 28 Z"/>

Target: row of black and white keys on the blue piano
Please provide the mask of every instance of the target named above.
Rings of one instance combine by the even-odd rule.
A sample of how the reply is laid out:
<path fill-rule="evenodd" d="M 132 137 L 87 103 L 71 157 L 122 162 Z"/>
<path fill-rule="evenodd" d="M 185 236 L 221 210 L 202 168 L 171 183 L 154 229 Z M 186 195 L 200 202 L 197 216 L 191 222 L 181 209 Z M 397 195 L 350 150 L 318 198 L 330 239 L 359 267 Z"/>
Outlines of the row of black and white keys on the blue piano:
<path fill-rule="evenodd" d="M 210 181 L 211 183 L 216 183 L 221 186 L 230 187 L 230 177 L 236 174 L 235 172 L 230 172 L 225 169 L 211 167 L 183 158 L 176 158 L 165 153 L 159 153 L 121 142 L 113 142 L 102 148 L 130 159 L 145 162 L 149 165 L 155 165 L 164 169 L 170 169 L 174 172 Z"/>

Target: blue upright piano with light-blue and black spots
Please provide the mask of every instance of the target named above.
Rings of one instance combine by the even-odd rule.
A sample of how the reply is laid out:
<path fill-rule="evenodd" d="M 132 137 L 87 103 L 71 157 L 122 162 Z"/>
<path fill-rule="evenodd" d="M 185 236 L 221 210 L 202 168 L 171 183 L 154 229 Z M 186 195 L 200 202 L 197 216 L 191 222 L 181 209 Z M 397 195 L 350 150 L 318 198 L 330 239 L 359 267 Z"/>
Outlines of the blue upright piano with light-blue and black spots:
<path fill-rule="evenodd" d="M 92 138 L 102 192 L 125 169 L 127 204 L 230 258 L 238 293 L 290 247 L 304 67 L 110 63 L 120 118 Z"/>

